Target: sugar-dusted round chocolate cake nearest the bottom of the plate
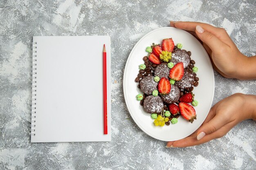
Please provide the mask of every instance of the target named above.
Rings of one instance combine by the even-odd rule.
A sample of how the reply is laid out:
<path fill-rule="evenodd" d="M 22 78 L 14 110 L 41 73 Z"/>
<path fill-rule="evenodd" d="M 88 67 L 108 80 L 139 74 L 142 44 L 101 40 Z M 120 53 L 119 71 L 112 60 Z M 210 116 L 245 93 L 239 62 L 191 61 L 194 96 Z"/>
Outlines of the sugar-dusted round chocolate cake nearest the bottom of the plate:
<path fill-rule="evenodd" d="M 164 107 L 164 103 L 161 99 L 161 97 L 159 96 L 147 96 L 144 99 L 144 109 L 148 112 L 148 113 L 161 113 L 162 112 L 162 108 Z"/>

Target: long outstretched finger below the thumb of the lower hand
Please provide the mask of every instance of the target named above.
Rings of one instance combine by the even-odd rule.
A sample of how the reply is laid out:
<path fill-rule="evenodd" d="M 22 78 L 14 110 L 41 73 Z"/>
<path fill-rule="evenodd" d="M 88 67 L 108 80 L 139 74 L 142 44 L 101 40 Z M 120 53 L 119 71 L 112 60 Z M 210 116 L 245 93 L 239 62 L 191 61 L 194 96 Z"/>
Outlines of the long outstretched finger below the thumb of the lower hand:
<path fill-rule="evenodd" d="M 234 122 L 230 122 L 229 124 L 223 126 L 222 128 L 220 128 L 216 132 L 205 135 L 205 137 L 203 137 L 201 140 L 197 140 L 196 136 L 191 136 L 191 137 L 187 137 L 185 139 L 181 139 L 179 141 L 175 141 L 175 142 L 173 142 L 172 147 L 173 148 L 177 148 L 177 147 L 182 148 L 182 147 L 204 144 L 204 143 L 209 142 L 213 139 L 223 137 L 224 135 L 227 134 L 227 132 L 229 132 L 229 130 L 232 127 L 234 127 L 234 125 L 235 125 Z"/>

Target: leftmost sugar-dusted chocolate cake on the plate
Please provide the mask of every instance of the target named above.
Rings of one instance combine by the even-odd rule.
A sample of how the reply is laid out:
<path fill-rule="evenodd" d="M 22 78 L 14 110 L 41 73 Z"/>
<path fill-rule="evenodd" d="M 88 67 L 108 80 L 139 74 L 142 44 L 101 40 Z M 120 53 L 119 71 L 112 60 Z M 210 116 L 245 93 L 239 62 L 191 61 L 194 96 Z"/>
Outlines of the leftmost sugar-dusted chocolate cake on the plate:
<path fill-rule="evenodd" d="M 157 82 L 154 81 L 154 76 L 148 75 L 141 79 L 140 81 L 140 89 L 146 93 L 147 95 L 152 95 L 154 90 L 157 90 Z"/>

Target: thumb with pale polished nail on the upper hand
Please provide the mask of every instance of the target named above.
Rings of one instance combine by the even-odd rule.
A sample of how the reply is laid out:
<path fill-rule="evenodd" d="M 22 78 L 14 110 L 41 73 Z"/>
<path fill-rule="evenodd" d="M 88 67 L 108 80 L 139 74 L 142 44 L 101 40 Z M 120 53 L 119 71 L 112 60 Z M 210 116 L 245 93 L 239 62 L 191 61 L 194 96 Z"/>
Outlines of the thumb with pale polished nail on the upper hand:
<path fill-rule="evenodd" d="M 214 52 L 220 51 L 226 44 L 220 41 L 215 35 L 204 30 L 201 26 L 197 25 L 195 27 L 195 33 L 198 35 L 198 38 L 202 40 L 209 48 Z"/>

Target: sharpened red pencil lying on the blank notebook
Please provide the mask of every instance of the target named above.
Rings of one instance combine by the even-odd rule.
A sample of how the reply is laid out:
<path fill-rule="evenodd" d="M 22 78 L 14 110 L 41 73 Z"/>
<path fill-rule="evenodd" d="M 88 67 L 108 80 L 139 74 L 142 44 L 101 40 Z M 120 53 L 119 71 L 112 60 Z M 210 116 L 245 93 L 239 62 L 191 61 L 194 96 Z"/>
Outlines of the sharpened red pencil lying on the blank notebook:
<path fill-rule="evenodd" d="M 107 53 L 103 46 L 103 120 L 104 135 L 108 134 L 108 110 L 107 110 Z"/>

